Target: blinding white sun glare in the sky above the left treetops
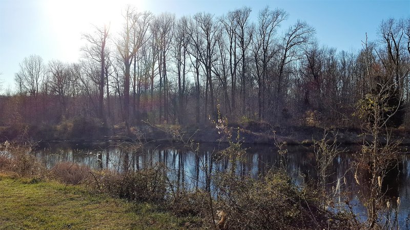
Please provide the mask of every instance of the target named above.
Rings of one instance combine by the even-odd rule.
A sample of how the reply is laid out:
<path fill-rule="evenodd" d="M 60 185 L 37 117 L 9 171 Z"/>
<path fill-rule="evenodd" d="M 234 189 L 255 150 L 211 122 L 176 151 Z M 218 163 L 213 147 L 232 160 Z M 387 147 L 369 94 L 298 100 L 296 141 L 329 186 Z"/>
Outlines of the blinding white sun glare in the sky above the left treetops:
<path fill-rule="evenodd" d="M 79 50 L 85 42 L 81 34 L 93 33 L 95 26 L 110 25 L 110 34 L 115 36 L 122 28 L 124 18 L 121 12 L 126 5 L 135 6 L 138 10 L 142 8 L 141 2 L 135 0 L 44 0 L 42 4 L 45 27 L 52 31 L 49 38 L 54 43 L 50 48 L 64 49 L 58 58 L 68 61 L 79 58 Z"/>

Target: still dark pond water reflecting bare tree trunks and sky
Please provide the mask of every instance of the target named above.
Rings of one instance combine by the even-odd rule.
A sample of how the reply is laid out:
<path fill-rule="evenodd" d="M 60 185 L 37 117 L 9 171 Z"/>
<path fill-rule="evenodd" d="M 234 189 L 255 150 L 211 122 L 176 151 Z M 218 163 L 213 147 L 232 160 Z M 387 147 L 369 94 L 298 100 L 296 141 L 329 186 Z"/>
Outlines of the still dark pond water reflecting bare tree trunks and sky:
<path fill-rule="evenodd" d="M 201 144 L 186 147 L 178 144 L 149 144 L 143 148 L 129 148 L 118 144 L 80 144 L 80 143 L 42 143 L 33 152 L 44 160 L 51 168 L 60 161 L 80 163 L 94 169 L 113 169 L 121 171 L 124 167 L 134 170 L 162 163 L 170 169 L 170 178 L 179 186 L 187 189 L 205 188 L 204 165 L 212 172 L 229 169 L 231 163 L 218 151 L 226 148 L 223 144 Z M 278 149 L 269 145 L 243 145 L 246 149 L 242 159 L 238 161 L 236 173 L 258 178 L 269 170 L 283 167 L 293 182 L 315 183 L 318 179 L 313 148 L 306 146 L 288 146 L 285 156 L 278 154 Z M 359 186 L 355 182 L 352 163 L 358 146 L 348 146 L 346 151 L 338 155 L 327 174 L 326 190 L 335 200 L 343 202 L 345 197 L 351 200 L 354 211 L 365 216 L 365 208 L 361 203 Z M 410 219 L 410 155 L 400 155 L 398 166 L 389 171 L 384 179 L 383 188 L 386 199 L 396 203 L 400 197 L 399 225 L 407 228 Z M 344 178 L 344 179 L 343 179 Z M 211 186 L 212 189 L 212 186 Z M 345 195 L 347 193 L 347 195 Z M 343 196 L 341 195 L 343 194 Z"/>

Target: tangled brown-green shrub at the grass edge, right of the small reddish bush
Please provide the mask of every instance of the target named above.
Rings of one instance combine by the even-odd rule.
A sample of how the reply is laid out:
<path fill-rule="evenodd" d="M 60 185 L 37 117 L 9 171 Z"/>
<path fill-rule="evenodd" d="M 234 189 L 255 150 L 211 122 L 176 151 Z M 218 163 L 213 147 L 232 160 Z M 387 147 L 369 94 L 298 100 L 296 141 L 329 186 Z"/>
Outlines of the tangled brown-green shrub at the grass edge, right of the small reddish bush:
<path fill-rule="evenodd" d="M 161 202 L 166 197 L 167 172 L 162 165 L 122 173 L 103 170 L 92 175 L 90 186 L 98 192 L 134 201 Z"/>

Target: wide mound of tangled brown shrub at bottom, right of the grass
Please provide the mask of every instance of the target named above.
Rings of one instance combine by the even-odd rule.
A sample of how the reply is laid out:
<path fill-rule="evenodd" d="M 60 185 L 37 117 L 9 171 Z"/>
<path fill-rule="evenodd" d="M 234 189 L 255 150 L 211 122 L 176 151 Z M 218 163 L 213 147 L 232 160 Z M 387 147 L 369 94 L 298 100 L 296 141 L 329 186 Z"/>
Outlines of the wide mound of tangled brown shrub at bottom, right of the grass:
<path fill-rule="evenodd" d="M 217 210 L 227 214 L 230 229 L 294 229 L 329 227 L 320 194 L 295 186 L 284 172 L 260 180 L 222 174 L 217 183 Z"/>

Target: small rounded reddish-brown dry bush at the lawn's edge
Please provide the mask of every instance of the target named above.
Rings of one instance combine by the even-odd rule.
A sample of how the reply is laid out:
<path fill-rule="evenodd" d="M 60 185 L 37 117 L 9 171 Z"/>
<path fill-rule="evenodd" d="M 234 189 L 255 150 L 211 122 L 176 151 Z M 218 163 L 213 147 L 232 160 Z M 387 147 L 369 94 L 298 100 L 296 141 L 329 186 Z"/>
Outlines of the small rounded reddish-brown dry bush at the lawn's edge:
<path fill-rule="evenodd" d="M 72 162 L 57 163 L 52 169 L 52 175 L 61 182 L 78 185 L 90 176 L 90 167 Z"/>

